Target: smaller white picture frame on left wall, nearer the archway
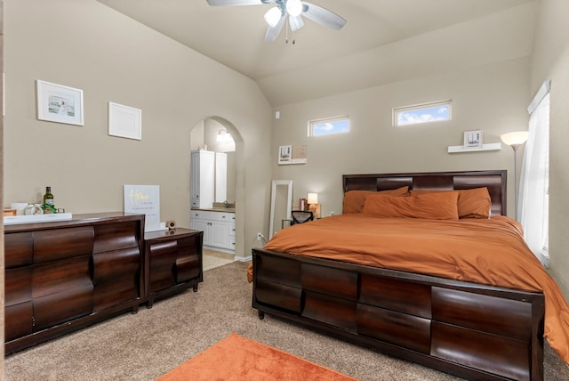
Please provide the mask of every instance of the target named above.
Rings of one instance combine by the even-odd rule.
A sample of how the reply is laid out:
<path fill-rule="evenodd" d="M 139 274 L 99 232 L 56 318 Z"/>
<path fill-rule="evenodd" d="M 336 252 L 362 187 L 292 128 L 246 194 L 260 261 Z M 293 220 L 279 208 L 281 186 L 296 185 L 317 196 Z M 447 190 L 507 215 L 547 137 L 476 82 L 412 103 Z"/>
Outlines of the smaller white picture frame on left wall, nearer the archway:
<path fill-rule="evenodd" d="M 142 140 L 142 110 L 109 101 L 108 134 Z"/>

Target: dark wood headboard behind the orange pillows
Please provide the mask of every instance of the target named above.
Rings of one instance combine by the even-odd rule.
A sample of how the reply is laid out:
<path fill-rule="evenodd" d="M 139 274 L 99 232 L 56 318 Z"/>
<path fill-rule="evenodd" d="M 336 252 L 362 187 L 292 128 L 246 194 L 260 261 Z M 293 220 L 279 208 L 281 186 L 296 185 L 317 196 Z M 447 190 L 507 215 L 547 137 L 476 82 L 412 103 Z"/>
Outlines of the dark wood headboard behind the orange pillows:
<path fill-rule="evenodd" d="M 468 190 L 488 188 L 492 215 L 506 215 L 506 171 L 425 172 L 414 174 L 344 174 L 348 190 L 391 190 L 404 187 L 424 190 Z"/>

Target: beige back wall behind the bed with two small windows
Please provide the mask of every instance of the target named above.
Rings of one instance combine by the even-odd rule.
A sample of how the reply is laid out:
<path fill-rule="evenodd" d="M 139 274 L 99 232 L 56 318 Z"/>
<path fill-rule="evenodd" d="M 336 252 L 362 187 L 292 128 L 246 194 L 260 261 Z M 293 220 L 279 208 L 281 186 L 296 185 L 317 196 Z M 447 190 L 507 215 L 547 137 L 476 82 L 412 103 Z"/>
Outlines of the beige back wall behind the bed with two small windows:
<path fill-rule="evenodd" d="M 426 101 L 453 100 L 453 120 L 393 127 L 392 109 Z M 527 128 L 529 58 L 501 61 L 445 75 L 305 101 L 274 109 L 273 177 L 293 180 L 294 202 L 318 193 L 322 214 L 341 214 L 341 175 L 514 169 L 513 151 L 447 153 L 464 131 L 481 129 L 484 142 Z M 348 115 L 350 133 L 307 137 L 308 121 Z M 306 165 L 276 164 L 280 145 L 307 145 Z M 521 150 L 518 151 L 521 158 Z M 509 176 L 509 215 L 514 214 L 514 178 Z"/>

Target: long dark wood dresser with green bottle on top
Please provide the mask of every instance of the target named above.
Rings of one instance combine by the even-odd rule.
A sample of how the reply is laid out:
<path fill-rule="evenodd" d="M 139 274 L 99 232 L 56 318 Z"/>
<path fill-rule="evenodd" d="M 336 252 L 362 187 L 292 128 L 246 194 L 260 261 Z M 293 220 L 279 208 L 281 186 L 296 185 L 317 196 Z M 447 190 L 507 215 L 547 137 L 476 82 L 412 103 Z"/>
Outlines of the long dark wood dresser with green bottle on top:
<path fill-rule="evenodd" d="M 143 238 L 144 215 L 123 213 L 5 225 L 5 353 L 137 312 Z"/>

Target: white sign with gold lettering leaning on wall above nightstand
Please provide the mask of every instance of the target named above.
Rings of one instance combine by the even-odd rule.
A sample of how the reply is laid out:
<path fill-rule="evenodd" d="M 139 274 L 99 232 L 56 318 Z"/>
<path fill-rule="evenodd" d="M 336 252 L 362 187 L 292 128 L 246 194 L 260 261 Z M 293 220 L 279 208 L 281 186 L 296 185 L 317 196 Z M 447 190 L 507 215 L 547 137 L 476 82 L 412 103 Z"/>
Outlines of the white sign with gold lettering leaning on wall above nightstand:
<path fill-rule="evenodd" d="M 124 213 L 145 215 L 144 231 L 160 230 L 160 186 L 124 185 Z"/>

